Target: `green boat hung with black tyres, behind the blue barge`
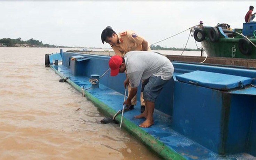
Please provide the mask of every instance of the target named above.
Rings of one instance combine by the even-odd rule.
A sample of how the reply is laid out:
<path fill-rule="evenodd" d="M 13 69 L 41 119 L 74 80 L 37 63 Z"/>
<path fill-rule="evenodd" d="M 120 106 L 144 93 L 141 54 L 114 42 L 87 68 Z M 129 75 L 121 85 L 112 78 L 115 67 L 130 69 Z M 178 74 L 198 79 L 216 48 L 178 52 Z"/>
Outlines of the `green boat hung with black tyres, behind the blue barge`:
<path fill-rule="evenodd" d="M 194 27 L 193 35 L 209 57 L 256 59 L 256 22 L 243 23 L 243 29 L 231 29 L 225 23 L 215 27 L 201 23 Z"/>

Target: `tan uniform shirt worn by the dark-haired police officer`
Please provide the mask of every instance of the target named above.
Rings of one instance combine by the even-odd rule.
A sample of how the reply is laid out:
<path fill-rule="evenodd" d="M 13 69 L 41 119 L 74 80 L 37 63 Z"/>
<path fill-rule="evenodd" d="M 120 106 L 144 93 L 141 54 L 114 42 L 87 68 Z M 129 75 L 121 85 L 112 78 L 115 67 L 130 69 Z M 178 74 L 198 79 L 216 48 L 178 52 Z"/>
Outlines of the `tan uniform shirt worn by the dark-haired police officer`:
<path fill-rule="evenodd" d="M 119 44 L 112 46 L 116 55 L 124 56 L 127 52 L 133 50 L 142 50 L 141 43 L 143 38 L 131 30 L 125 32 L 117 33 Z M 147 50 L 150 50 L 149 44 Z"/>

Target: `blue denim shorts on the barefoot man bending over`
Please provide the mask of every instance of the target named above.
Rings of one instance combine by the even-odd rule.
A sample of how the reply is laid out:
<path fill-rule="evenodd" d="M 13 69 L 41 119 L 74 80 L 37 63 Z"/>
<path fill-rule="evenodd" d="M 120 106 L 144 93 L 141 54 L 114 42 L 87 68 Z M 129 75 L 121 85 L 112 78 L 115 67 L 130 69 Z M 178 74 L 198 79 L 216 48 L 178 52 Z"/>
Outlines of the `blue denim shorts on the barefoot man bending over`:
<path fill-rule="evenodd" d="M 151 75 L 150 78 L 144 80 L 142 83 L 141 92 L 143 92 L 143 99 L 150 102 L 155 102 L 163 88 L 163 85 L 167 82 L 168 81 L 166 80 L 162 80 L 161 76 L 156 77 Z"/>

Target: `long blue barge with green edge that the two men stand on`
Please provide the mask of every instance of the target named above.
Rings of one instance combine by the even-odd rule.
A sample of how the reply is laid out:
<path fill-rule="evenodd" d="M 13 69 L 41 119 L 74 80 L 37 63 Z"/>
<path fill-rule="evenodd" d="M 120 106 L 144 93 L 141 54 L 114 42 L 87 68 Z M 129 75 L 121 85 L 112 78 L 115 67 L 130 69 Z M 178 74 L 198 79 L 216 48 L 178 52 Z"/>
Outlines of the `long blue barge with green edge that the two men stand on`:
<path fill-rule="evenodd" d="M 46 54 L 46 65 L 113 117 L 122 109 L 125 74 L 106 73 L 109 58 L 61 50 Z M 174 76 L 155 102 L 154 125 L 138 127 L 144 120 L 134 118 L 137 105 L 124 113 L 122 127 L 161 159 L 256 159 L 255 68 L 172 63 Z M 95 75 L 98 83 L 91 84 Z"/>

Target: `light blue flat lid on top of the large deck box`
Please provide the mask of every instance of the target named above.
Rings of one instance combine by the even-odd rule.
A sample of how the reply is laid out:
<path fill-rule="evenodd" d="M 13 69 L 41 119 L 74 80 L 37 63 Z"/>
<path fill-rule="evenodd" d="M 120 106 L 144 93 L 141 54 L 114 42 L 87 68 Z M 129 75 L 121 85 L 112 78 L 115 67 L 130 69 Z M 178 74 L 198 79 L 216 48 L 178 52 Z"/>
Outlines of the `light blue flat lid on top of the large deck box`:
<path fill-rule="evenodd" d="M 176 75 L 176 79 L 181 82 L 218 90 L 229 90 L 251 83 L 251 78 L 249 77 L 205 71 L 194 71 Z"/>

